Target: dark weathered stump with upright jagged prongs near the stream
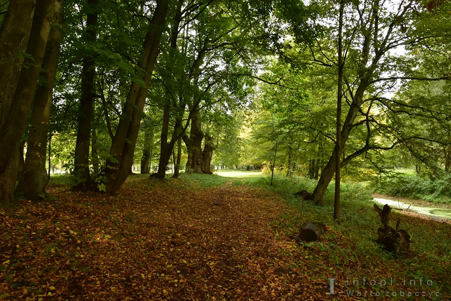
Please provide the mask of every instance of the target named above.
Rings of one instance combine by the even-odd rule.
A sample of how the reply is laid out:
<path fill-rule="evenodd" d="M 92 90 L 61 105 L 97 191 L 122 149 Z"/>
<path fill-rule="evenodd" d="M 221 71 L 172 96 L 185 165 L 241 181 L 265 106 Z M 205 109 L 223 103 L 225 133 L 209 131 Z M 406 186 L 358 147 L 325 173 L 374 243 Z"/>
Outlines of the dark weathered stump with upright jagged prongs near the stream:
<path fill-rule="evenodd" d="M 380 209 L 377 204 L 374 204 L 374 209 L 379 213 L 382 223 L 382 226 L 377 229 L 378 238 L 376 242 L 383 245 L 384 250 L 395 254 L 400 254 L 409 250 L 410 235 L 407 234 L 405 230 L 399 229 L 400 219 L 398 218 L 396 222 L 396 229 L 393 229 L 388 224 L 392 208 L 385 204 L 384 207 Z"/>

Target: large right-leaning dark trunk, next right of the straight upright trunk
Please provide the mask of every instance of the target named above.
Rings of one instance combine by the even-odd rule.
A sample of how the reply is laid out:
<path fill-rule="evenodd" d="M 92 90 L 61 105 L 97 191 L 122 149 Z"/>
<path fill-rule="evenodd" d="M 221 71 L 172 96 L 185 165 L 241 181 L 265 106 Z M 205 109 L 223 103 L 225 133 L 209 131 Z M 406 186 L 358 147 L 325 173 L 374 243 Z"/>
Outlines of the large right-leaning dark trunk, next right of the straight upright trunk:
<path fill-rule="evenodd" d="M 106 192 L 110 195 L 113 195 L 127 179 L 132 165 L 141 124 L 142 109 L 147 97 L 147 89 L 150 84 L 153 67 L 159 54 L 160 40 L 166 23 L 168 5 L 169 0 L 157 1 L 157 6 L 150 22 L 150 30 L 147 32 L 144 40 L 142 61 L 139 64 L 141 69 L 146 71 L 143 77 L 144 87 L 139 88 L 137 83 L 132 83 L 114 135 L 110 154 L 116 158 L 117 162 L 109 161 L 107 165 L 113 167 L 107 168 L 105 171 L 108 180 Z"/>

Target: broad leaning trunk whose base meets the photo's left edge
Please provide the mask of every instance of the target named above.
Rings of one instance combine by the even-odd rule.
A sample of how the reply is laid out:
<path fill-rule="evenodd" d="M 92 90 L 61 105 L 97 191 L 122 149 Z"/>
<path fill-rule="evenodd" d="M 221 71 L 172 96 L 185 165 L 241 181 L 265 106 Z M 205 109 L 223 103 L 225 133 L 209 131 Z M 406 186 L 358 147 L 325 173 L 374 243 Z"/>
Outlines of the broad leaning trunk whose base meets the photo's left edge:
<path fill-rule="evenodd" d="M 34 90 L 38 82 L 39 71 L 50 32 L 54 3 L 55 0 L 37 1 L 28 39 L 27 54 L 29 57 L 24 60 L 28 67 L 21 69 L 17 84 L 14 82 L 5 84 L 8 88 L 7 90 L 15 90 L 15 92 L 12 99 L 7 99 L 1 105 L 0 202 L 11 202 L 14 198 L 20 141 L 27 124 Z M 17 24 L 11 26 L 17 26 Z M 7 31 L 3 27 L 1 30 L 2 34 L 4 31 Z M 13 78 L 10 75 L 8 75 L 8 79 Z M 12 88 L 15 85 L 17 86 Z"/>

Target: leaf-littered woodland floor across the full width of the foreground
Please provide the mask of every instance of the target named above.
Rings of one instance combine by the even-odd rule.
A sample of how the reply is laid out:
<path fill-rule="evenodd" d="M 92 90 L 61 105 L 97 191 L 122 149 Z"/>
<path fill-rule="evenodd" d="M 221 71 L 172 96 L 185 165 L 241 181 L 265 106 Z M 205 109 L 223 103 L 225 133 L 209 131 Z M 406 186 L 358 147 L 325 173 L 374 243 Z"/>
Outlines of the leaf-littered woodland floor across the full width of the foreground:
<path fill-rule="evenodd" d="M 451 251 L 440 249 L 445 259 L 424 271 L 415 263 L 431 257 L 418 248 L 401 262 L 377 248 L 365 253 L 377 228 L 362 245 L 328 222 L 323 242 L 298 245 L 293 236 L 317 216 L 275 192 L 225 181 L 133 178 L 113 197 L 51 184 L 55 198 L 0 208 L 0 300 L 362 300 L 347 296 L 346 279 L 410 279 L 417 270 L 434 286 L 397 281 L 390 291 L 439 290 L 450 300 Z M 450 225 L 404 221 L 450 237 Z M 337 279 L 334 296 L 328 278 Z M 375 290 L 365 285 L 358 289 Z"/>

